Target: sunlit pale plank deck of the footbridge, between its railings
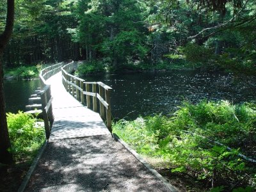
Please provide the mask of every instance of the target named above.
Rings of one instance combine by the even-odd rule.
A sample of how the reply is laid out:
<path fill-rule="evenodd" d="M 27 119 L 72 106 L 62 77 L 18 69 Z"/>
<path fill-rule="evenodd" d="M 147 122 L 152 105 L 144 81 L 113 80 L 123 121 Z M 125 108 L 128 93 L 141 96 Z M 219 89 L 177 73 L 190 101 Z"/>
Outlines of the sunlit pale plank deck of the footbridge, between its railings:
<path fill-rule="evenodd" d="M 50 77 L 54 124 L 49 140 L 110 134 L 98 113 L 86 108 L 61 83 L 61 72 Z"/>

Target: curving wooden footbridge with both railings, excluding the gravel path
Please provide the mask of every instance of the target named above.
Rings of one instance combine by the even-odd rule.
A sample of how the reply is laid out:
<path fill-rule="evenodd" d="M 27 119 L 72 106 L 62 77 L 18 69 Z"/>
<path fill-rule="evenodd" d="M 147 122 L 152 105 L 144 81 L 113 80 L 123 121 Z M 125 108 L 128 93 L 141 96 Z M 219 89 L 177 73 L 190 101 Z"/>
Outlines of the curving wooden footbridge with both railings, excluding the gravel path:
<path fill-rule="evenodd" d="M 111 132 L 112 88 L 71 75 L 76 67 L 77 63 L 72 61 L 52 65 L 40 72 L 40 99 L 47 139 L 79 138 Z"/>

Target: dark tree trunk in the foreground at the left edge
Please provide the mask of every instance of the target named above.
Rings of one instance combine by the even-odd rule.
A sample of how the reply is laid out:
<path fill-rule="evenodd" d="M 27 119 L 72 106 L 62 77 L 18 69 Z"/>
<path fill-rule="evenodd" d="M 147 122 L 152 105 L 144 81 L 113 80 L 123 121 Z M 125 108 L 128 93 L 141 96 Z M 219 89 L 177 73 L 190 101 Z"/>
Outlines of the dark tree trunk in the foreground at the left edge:
<path fill-rule="evenodd" d="M 7 0 L 6 25 L 3 33 L 0 35 L 0 57 L 12 35 L 13 22 L 14 0 Z M 10 148 L 10 140 L 6 121 L 3 76 L 3 65 L 0 59 L 0 163 L 9 164 L 12 162 L 12 154 L 8 151 L 8 148 Z"/>

